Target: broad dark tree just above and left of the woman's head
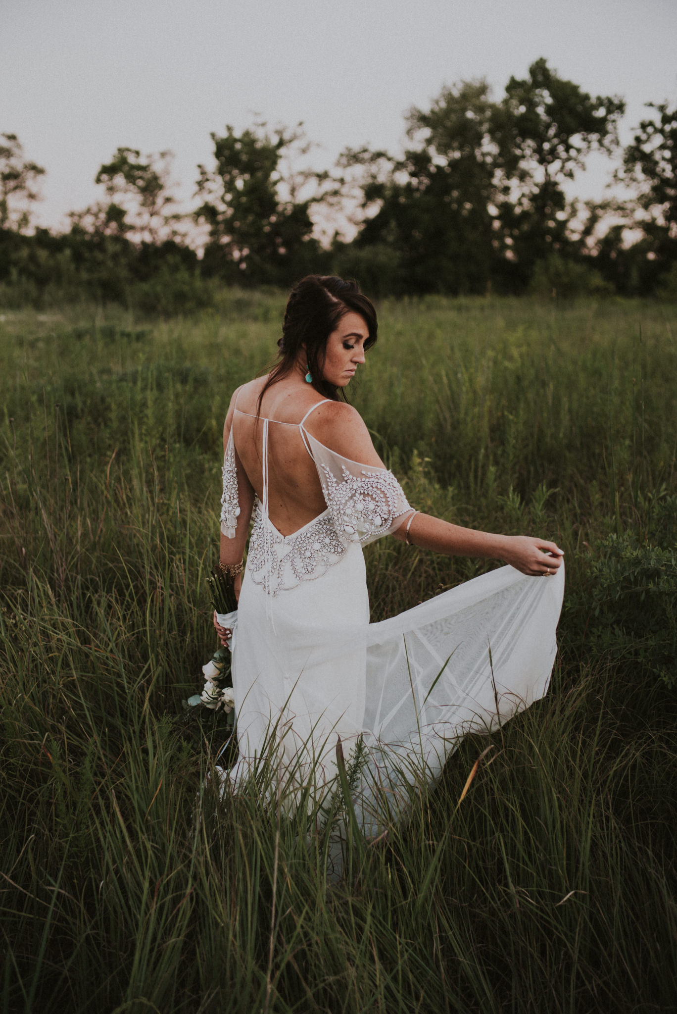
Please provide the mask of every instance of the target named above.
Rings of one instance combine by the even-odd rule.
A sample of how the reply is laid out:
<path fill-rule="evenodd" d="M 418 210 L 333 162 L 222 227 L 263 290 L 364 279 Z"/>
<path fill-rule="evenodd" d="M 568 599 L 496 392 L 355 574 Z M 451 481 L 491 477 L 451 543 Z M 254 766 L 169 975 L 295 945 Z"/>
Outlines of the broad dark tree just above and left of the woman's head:
<path fill-rule="evenodd" d="M 203 203 L 195 213 L 209 229 L 206 270 L 274 284 L 308 271 L 319 254 L 309 211 L 326 173 L 292 168 L 308 150 L 303 135 L 255 124 L 239 136 L 232 127 L 211 136 L 216 166 L 198 166 Z"/>

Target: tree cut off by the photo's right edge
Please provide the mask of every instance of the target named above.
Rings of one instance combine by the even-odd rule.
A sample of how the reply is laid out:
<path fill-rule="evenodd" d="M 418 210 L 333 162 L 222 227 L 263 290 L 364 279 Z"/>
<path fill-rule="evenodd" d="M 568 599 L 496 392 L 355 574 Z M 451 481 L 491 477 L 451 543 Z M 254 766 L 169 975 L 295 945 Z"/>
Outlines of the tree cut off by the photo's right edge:
<path fill-rule="evenodd" d="M 635 224 L 645 232 L 645 256 L 653 260 L 658 277 L 677 262 L 677 106 L 647 105 L 655 115 L 636 128 L 617 178 L 635 188 L 646 213 Z"/>

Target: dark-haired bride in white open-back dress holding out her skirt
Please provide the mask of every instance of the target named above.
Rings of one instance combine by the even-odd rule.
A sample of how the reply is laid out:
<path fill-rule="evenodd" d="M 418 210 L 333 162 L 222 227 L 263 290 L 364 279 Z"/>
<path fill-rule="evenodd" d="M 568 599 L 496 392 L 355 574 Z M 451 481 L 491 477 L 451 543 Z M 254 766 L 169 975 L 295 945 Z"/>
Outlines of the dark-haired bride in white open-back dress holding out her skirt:
<path fill-rule="evenodd" d="M 341 739 L 360 756 L 367 835 L 401 811 L 415 769 L 434 780 L 462 735 L 543 696 L 563 590 L 554 542 L 407 503 L 343 399 L 376 337 L 357 283 L 311 275 L 293 289 L 277 364 L 237 388 L 226 416 L 220 566 L 238 610 L 214 617 L 233 651 L 239 745 L 224 783 L 237 789 L 267 755 L 292 796 L 312 779 L 321 798 Z M 383 535 L 509 566 L 370 625 L 362 548 Z"/>

